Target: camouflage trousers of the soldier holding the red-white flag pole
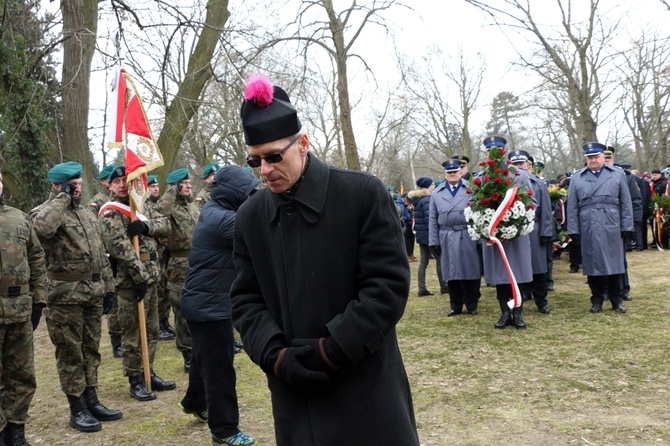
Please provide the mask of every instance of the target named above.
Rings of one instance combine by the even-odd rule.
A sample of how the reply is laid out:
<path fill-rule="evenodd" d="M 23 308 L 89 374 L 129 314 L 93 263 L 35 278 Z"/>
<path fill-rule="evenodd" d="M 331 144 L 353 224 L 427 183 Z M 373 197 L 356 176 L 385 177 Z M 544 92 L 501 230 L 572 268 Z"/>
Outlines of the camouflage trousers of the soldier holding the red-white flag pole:
<path fill-rule="evenodd" d="M 140 342 L 140 318 L 135 292 L 131 289 L 120 289 L 117 291 L 116 300 L 119 303 L 119 322 L 123 332 L 121 336 L 123 374 L 124 376 L 141 375 L 144 367 L 142 365 L 142 344 Z M 147 327 L 149 366 L 153 367 L 156 344 L 158 343 L 158 296 L 154 285 L 149 286 L 147 294 L 144 296 L 144 317 Z"/>

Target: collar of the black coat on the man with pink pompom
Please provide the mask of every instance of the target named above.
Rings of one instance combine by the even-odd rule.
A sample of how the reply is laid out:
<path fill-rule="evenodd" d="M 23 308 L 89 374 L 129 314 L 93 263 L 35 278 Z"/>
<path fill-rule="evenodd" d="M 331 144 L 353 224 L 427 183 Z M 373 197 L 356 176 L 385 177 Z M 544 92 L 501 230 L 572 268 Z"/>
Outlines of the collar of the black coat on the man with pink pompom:
<path fill-rule="evenodd" d="M 308 223 L 316 223 L 319 215 L 323 213 L 326 193 L 328 192 L 330 167 L 312 155 L 311 152 L 308 152 L 307 156 L 309 157 L 308 168 L 292 199 L 288 199 L 282 194 L 272 193 L 267 189 L 269 198 L 265 200 L 265 206 L 270 223 L 277 220 L 281 205 L 289 202 L 297 205 L 300 214 Z"/>

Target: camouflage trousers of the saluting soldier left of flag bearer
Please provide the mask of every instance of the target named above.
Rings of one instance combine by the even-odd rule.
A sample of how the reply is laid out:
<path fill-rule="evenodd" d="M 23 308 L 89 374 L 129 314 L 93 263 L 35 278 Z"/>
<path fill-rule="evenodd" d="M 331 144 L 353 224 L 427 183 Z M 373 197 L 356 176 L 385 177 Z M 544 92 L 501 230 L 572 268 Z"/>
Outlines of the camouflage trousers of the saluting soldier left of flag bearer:
<path fill-rule="evenodd" d="M 86 387 L 97 387 L 102 302 L 49 305 L 44 314 L 63 392 L 80 396 Z"/>

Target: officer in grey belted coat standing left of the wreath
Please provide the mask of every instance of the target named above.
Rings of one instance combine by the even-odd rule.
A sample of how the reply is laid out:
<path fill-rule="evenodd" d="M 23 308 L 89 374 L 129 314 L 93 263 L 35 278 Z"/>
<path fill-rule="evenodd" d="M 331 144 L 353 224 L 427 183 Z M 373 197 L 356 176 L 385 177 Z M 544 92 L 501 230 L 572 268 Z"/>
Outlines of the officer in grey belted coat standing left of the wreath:
<path fill-rule="evenodd" d="M 468 234 L 463 210 L 470 195 L 467 182 L 461 179 L 461 162 L 450 159 L 442 163 L 446 181 L 430 197 L 428 218 L 429 246 L 440 254 L 442 278 L 449 285 L 451 311 L 447 316 L 463 312 L 477 314 L 481 270 L 477 243 Z"/>

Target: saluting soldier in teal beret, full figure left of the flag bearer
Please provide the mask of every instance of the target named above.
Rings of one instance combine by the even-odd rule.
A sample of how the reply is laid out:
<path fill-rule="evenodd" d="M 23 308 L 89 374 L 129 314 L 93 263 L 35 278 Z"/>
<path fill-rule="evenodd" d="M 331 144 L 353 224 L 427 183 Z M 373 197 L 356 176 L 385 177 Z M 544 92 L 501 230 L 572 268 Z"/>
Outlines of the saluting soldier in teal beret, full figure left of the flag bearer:
<path fill-rule="evenodd" d="M 100 421 L 123 414 L 98 400 L 103 311 L 114 301 L 114 278 L 95 216 L 81 206 L 81 164 L 49 170 L 49 199 L 30 212 L 47 263 L 44 310 L 61 389 L 70 404 L 70 426 L 96 432 Z"/>

